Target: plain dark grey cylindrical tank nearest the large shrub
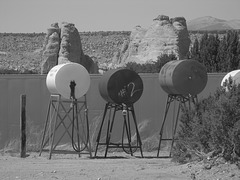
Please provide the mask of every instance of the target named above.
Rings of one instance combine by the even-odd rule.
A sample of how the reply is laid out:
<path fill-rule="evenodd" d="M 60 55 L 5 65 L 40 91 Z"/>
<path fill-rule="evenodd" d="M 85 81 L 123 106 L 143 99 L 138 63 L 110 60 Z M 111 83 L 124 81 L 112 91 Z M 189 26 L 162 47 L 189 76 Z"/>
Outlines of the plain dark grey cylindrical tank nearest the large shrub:
<path fill-rule="evenodd" d="M 159 72 L 162 89 L 168 94 L 197 95 L 207 84 L 207 70 L 196 60 L 175 60 Z"/>

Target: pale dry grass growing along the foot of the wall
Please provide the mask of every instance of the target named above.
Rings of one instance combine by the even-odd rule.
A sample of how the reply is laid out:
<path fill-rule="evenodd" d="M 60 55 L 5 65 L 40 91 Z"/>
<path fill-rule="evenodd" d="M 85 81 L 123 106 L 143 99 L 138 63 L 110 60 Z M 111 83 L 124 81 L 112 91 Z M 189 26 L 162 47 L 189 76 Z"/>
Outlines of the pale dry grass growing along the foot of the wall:
<path fill-rule="evenodd" d="M 99 126 L 102 120 L 102 113 L 95 116 L 91 120 L 90 124 L 90 132 L 89 132 L 89 141 L 91 144 L 91 151 L 95 151 L 96 148 L 96 138 L 98 135 Z M 151 128 L 151 121 L 144 120 L 141 123 L 138 124 L 139 133 L 142 140 L 142 150 L 144 152 L 152 152 L 156 151 L 158 149 L 159 144 L 159 134 L 157 131 L 151 131 L 154 133 L 150 133 Z M 41 138 L 43 133 L 43 128 L 40 126 L 36 126 L 33 122 L 29 121 L 27 123 L 27 144 L 26 144 L 26 150 L 27 152 L 39 152 L 40 151 L 40 145 L 41 145 Z M 136 133 L 132 136 L 133 145 L 136 143 Z M 4 153 L 19 153 L 20 152 L 20 138 L 14 138 L 8 141 L 3 149 L 0 150 L 2 154 Z M 161 145 L 161 150 L 169 150 L 170 144 L 168 142 L 163 142 Z M 48 148 L 48 147 L 45 147 Z M 59 150 L 72 150 L 72 143 L 65 143 L 65 144 L 59 144 L 57 146 L 57 149 Z M 105 151 L 104 146 L 99 146 L 98 151 Z M 122 149 L 109 149 L 109 151 L 122 151 Z"/>

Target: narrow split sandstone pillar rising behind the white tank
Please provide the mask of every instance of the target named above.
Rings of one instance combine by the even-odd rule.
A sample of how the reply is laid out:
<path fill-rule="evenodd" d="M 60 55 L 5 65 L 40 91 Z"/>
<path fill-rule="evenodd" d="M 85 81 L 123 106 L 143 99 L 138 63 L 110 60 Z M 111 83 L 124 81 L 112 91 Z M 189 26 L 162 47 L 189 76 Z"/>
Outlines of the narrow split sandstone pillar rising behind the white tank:
<path fill-rule="evenodd" d="M 97 64 L 83 53 L 80 35 L 74 24 L 63 22 L 60 28 L 57 23 L 51 26 L 45 38 L 41 74 L 47 74 L 53 66 L 67 62 L 79 63 L 89 73 L 98 73 Z"/>

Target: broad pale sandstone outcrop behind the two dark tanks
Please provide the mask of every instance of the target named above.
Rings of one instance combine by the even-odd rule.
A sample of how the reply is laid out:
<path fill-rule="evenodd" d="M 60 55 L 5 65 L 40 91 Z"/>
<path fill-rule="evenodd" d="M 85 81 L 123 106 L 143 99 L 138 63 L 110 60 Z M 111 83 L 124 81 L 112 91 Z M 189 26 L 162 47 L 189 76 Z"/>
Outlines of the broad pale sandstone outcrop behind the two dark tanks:
<path fill-rule="evenodd" d="M 136 26 L 130 35 L 130 42 L 123 44 L 115 54 L 115 63 L 146 63 L 156 61 L 161 54 L 174 53 L 184 59 L 189 51 L 191 40 L 184 17 L 169 19 L 160 15 L 148 29 Z M 127 49 L 126 49 L 127 47 Z"/>

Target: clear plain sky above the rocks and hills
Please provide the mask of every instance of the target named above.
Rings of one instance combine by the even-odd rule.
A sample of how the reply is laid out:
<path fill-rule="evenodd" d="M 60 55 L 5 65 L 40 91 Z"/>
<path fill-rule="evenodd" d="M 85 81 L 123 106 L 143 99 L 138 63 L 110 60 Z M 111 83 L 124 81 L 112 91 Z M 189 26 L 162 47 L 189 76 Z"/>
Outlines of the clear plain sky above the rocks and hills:
<path fill-rule="evenodd" d="M 240 19 L 240 0 L 0 0 L 0 33 L 41 33 L 52 23 L 84 31 L 147 28 L 158 15 Z"/>

